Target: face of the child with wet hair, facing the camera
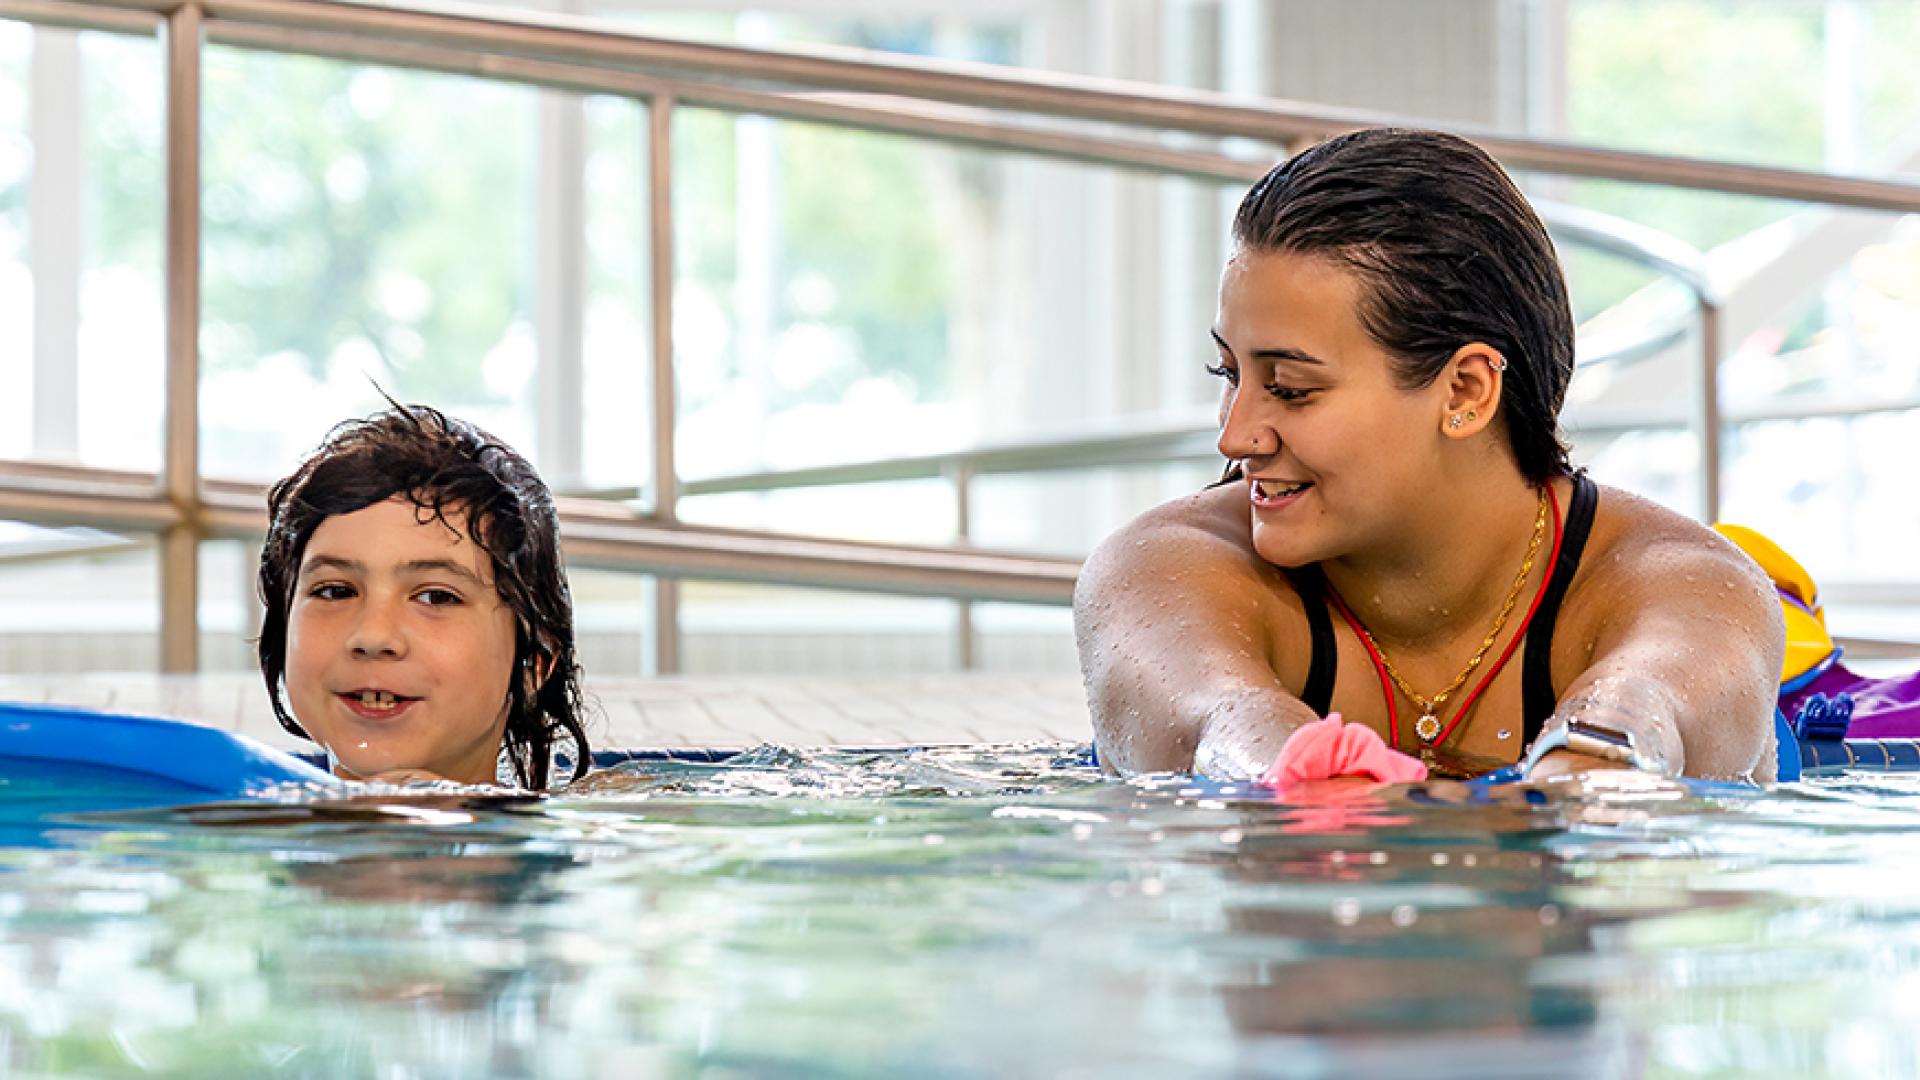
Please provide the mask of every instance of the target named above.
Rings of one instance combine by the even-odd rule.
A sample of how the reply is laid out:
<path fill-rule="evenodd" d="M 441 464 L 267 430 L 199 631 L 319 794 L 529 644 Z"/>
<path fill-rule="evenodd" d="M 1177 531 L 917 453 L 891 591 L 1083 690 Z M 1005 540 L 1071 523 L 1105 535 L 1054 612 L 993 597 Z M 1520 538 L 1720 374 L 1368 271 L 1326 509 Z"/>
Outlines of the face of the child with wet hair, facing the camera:
<path fill-rule="evenodd" d="M 492 784 L 513 609 L 465 513 L 422 517 L 396 496 L 313 530 L 288 617 L 288 703 L 342 776 Z"/>

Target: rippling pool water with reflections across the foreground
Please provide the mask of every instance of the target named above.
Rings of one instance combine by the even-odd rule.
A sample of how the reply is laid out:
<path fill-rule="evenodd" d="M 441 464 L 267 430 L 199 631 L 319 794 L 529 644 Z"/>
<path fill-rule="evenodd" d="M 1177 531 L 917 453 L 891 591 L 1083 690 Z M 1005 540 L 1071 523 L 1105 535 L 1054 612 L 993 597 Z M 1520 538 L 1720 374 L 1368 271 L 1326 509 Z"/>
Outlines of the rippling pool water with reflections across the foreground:
<path fill-rule="evenodd" d="M 15 1076 L 1920 1074 L 1905 776 L 1277 803 L 1020 746 L 12 788 Z"/>

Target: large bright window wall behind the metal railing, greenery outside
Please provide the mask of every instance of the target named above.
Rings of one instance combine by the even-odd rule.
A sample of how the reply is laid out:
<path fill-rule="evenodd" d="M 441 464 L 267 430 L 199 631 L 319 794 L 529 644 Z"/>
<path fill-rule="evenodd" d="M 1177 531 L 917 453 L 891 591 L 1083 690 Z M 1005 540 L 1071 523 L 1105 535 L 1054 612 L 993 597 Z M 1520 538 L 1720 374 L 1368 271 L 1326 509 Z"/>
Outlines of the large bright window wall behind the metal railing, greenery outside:
<path fill-rule="evenodd" d="M 1599 146 L 1920 173 L 1920 83 L 1907 61 L 1920 12 L 1905 2 L 772 0 L 739 12 L 614 0 L 588 12 L 710 40 L 1021 63 Z M 0 21 L 0 459 L 159 467 L 161 88 L 156 38 Z M 653 507 L 645 104 L 230 46 L 204 50 L 202 98 L 204 475 L 278 477 L 332 423 L 392 394 L 495 430 L 561 492 Z M 672 150 L 672 448 L 695 488 L 680 519 L 1079 555 L 1217 475 L 1200 434 L 1215 392 L 1202 363 L 1238 184 L 697 104 L 676 110 Z M 1908 348 L 1920 227 L 1653 184 L 1521 181 L 1542 204 L 1697 252 L 1724 332 L 1724 517 L 1768 530 L 1822 582 L 1920 584 L 1899 542 L 1920 532 L 1903 494 L 1920 452 Z M 1690 430 L 1697 298 L 1645 259 L 1563 240 L 1592 361 L 1569 404 L 1576 455 L 1601 480 L 1692 513 L 1703 496 Z M 743 475 L 1148 425 L 1198 438 L 1165 463 L 972 477 L 964 500 L 954 475 L 699 494 L 707 480 L 739 488 Z M 67 530 L 8 528 L 8 580 L 54 580 L 27 567 L 58 567 L 83 582 L 98 569 L 131 600 L 54 619 L 54 594 L 12 588 L 13 630 L 44 615 L 96 634 L 100 650 L 71 644 L 67 659 L 29 663 L 10 646 L 0 663 L 154 663 L 148 540 L 88 534 L 69 548 Z M 205 667 L 250 663 L 250 561 L 238 542 L 202 550 Z M 645 671 L 655 582 L 580 571 L 576 592 L 591 663 Z M 697 671 L 1071 667 L 1058 609 L 712 582 L 670 596 Z M 127 603 L 146 615 L 129 621 Z"/>

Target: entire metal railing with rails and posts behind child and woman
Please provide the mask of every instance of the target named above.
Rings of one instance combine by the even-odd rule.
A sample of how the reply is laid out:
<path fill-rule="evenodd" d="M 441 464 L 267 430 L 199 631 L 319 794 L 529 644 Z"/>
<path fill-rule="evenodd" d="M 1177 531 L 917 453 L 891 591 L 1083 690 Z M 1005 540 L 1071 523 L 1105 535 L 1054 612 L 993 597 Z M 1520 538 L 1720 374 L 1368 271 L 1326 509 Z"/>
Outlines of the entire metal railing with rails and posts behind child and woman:
<path fill-rule="evenodd" d="M 204 536 L 257 532 L 257 490 L 202 482 L 198 473 L 198 248 L 200 248 L 200 60 L 204 42 L 282 52 L 311 52 L 378 63 L 461 71 L 476 77 L 595 90 L 645 100 L 649 108 L 649 221 L 653 225 L 653 377 L 655 377 L 655 507 L 637 515 L 624 507 L 563 507 L 568 552 L 607 565 L 662 573 L 751 577 L 753 580 L 814 580 L 818 584 L 889 590 L 933 588 L 945 596 L 1025 596 L 1062 601 L 1071 559 L 1025 559 L 985 552 L 870 546 L 804 540 L 772 532 L 703 530 L 678 525 L 676 502 L 697 490 L 682 484 L 674 465 L 672 404 L 672 229 L 670 117 L 678 106 L 756 111 L 826 123 L 906 131 L 996 150 L 1246 181 L 1263 163 L 1175 150 L 1140 138 L 1117 138 L 1083 129 L 1029 127 L 996 115 L 1010 110 L 1048 123 L 1100 121 L 1269 140 L 1294 146 L 1340 131 L 1409 123 L 1402 117 L 1327 110 L 1296 102 L 1244 100 L 1204 90 L 1142 86 L 1106 79 L 1018 71 L 1008 67 L 908 58 L 879 58 L 829 48 L 749 48 L 685 42 L 632 33 L 566 15 L 472 10 L 451 6 L 388 6 L 353 0 L 0 0 L 0 17 L 88 27 L 113 33 L 161 29 L 167 56 L 167 438 L 157 477 L 127 484 L 125 475 L 79 469 L 71 477 L 31 477 L 31 469 L 0 467 L 0 511 L 60 521 L 115 521 L 125 528 L 156 530 L 161 544 L 163 665 L 196 665 L 196 550 Z M 941 108 L 900 102 L 824 98 L 795 90 L 893 94 Z M 954 111 L 960 106 L 960 111 Z M 1809 173 L 1766 165 L 1599 150 L 1555 140 L 1461 129 L 1513 169 L 1634 183 L 1688 186 L 1734 194 L 1795 198 L 1834 206 L 1920 211 L 1920 183 Z M 1695 288 L 1695 292 L 1699 292 Z M 1701 294 L 1707 296 L 1707 294 Z M 1713 315 L 1703 304 L 1703 315 Z M 1707 357 L 1718 354 L 1715 321 L 1703 319 Z M 1713 388 L 1716 363 L 1703 365 L 1703 438 L 1709 467 L 1718 442 Z M 1208 432 L 1210 436 L 1210 432 Z M 1117 436 L 1116 436 L 1117 438 Z M 1188 438 L 1181 432 L 1146 432 Z M 1085 442 L 1085 440 L 1083 440 Z M 1117 446 L 1108 446 L 1116 450 Z M 1056 455 L 1087 452 L 1056 444 Z M 1144 450 L 1139 450 L 1144 452 Z M 985 457 L 952 461 L 956 498 L 966 519 L 966 479 L 977 465 L 1012 467 L 1037 461 L 1021 448 L 985 448 Z M 993 457 L 1000 454 L 1004 457 Z M 1043 455 L 1044 457 L 1044 455 Z M 931 459 L 906 467 L 925 469 Z M 1110 463 L 1110 461 L 1104 461 Z M 943 467 L 945 467 L 943 465 Z M 1715 477 L 1709 477 L 1709 484 Z M 244 486 L 242 486 L 244 488 Z M 1709 502 L 1711 502 L 1709 486 Z M 252 502 L 248 502 L 252 500 Z M 720 552 L 720 555 L 716 555 Z M 747 563 L 781 567 L 780 578 L 758 577 Z M 1000 580 L 972 588 L 970 580 Z M 1023 584 L 1021 584 L 1023 582 Z M 1064 584 L 1066 582 L 1066 584 Z M 1004 588 L 1002 588 L 1004 586 Z M 998 590 L 998 592 L 996 592 Z M 672 607 L 670 592 L 662 603 Z M 662 625 L 662 630 L 666 626 Z M 662 634 L 662 657 L 670 653 Z M 662 659 L 662 669 L 670 667 Z"/>

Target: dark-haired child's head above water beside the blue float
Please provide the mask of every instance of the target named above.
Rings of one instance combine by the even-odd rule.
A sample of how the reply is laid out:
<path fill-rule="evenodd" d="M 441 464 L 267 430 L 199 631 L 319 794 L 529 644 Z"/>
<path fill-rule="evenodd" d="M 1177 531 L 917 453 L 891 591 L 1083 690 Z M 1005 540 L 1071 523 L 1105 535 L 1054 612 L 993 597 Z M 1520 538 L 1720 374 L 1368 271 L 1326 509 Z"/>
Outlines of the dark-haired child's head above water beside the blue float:
<path fill-rule="evenodd" d="M 336 427 L 267 496 L 259 669 L 280 726 L 353 780 L 572 778 L 574 609 L 534 467 L 422 405 Z"/>

